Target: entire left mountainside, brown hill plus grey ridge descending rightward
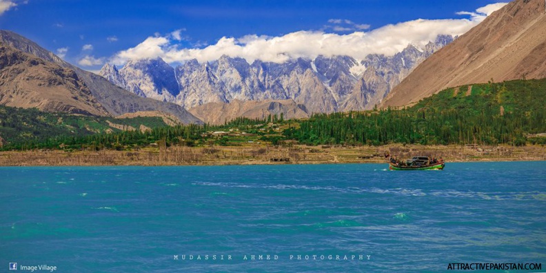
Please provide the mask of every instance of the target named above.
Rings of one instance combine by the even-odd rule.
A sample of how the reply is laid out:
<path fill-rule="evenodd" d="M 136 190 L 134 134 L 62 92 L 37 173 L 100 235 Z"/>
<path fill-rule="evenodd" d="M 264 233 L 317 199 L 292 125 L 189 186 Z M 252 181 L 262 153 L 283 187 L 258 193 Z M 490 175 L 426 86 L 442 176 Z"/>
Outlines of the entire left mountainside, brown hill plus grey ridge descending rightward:
<path fill-rule="evenodd" d="M 112 115 L 159 111 L 183 123 L 201 123 L 181 105 L 128 92 L 92 72 L 63 61 L 37 43 L 0 30 L 0 103 L 52 112 Z"/>

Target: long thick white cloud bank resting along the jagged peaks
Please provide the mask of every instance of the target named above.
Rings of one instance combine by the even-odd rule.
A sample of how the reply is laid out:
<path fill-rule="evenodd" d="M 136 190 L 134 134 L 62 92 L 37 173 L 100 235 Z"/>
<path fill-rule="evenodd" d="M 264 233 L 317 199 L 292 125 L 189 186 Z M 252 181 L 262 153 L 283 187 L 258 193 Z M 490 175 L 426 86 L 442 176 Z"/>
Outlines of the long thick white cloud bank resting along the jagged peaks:
<path fill-rule="evenodd" d="M 249 63 L 259 59 L 283 63 L 290 59 L 314 59 L 319 55 L 349 55 L 363 59 L 367 54 L 385 54 L 392 56 L 408 44 L 424 46 L 434 41 L 438 34 L 461 35 L 473 28 L 491 14 L 494 9 L 504 6 L 502 3 L 478 8 L 476 12 L 467 12 L 469 19 L 416 19 L 394 25 L 387 25 L 369 32 L 356 31 L 350 34 L 327 33 L 324 31 L 299 31 L 280 37 L 246 35 L 240 39 L 222 37 L 214 45 L 205 48 L 179 48 L 174 34 L 148 37 L 139 45 L 118 52 L 110 61 L 123 64 L 130 59 L 161 57 L 168 63 L 197 59 L 199 62 L 213 61 L 222 55 L 242 57 Z M 463 14 L 463 13 L 458 13 Z M 479 16 L 475 16 L 478 14 Z M 330 19 L 330 23 L 352 23 L 345 19 Z M 338 24 L 339 25 L 339 24 Z M 343 28 L 343 26 L 338 26 Z M 361 26 L 366 29 L 369 26 Z"/>

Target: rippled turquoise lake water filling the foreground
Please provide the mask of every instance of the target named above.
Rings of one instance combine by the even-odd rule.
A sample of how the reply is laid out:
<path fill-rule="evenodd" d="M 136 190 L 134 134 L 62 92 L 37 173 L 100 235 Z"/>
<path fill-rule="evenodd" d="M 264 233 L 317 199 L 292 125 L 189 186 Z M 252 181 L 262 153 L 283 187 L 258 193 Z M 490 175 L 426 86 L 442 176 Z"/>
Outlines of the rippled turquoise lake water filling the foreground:
<path fill-rule="evenodd" d="M 546 162 L 386 169 L 0 168 L 0 270 L 8 263 L 57 272 L 438 272 L 449 263 L 546 270 Z"/>

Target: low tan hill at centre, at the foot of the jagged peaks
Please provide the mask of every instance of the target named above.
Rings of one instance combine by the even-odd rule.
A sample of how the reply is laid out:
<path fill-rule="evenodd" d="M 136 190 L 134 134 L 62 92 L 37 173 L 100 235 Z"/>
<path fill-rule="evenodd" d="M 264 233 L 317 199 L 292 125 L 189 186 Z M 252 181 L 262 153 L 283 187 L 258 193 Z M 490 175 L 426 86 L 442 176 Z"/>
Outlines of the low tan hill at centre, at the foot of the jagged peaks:
<path fill-rule="evenodd" d="M 239 101 L 235 99 L 230 103 L 206 103 L 191 108 L 190 113 L 202 121 L 210 124 L 223 124 L 236 117 L 250 119 L 267 118 L 269 114 L 284 119 L 303 119 L 309 117 L 302 105 L 292 100 L 283 101 Z"/>

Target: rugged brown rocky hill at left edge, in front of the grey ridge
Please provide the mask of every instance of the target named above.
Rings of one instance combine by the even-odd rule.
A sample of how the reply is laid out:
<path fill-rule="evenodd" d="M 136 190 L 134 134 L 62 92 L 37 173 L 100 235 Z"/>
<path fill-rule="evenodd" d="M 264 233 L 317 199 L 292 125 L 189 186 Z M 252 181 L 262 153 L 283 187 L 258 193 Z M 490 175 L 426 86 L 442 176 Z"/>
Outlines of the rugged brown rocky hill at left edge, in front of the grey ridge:
<path fill-rule="evenodd" d="M 108 116 L 74 70 L 0 43 L 0 104 Z"/>

